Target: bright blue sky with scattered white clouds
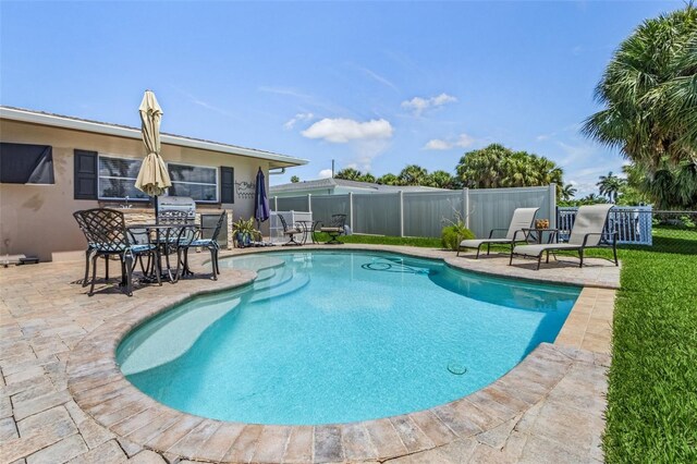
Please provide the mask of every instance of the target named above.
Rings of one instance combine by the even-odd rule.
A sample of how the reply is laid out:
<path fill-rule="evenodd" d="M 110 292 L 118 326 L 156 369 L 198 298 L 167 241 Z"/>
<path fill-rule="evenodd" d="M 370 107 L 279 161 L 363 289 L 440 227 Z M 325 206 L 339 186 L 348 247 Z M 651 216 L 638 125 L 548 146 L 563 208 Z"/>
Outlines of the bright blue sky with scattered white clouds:
<path fill-rule="evenodd" d="M 498 142 L 579 194 L 623 159 L 579 134 L 616 46 L 663 2 L 7 2 L 0 103 L 355 167 L 454 167 Z"/>

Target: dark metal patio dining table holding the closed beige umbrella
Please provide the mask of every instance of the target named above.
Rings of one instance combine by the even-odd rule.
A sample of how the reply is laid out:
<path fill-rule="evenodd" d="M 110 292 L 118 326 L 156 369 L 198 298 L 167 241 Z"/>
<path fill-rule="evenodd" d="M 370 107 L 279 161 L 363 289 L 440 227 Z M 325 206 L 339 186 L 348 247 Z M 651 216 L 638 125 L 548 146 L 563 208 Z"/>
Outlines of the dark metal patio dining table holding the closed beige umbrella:
<path fill-rule="evenodd" d="M 176 282 L 176 276 L 172 273 L 172 266 L 170 265 L 169 255 L 172 252 L 176 252 L 176 246 L 179 245 L 182 236 L 191 237 L 193 240 L 195 237 L 196 231 L 200 229 L 200 225 L 195 222 L 148 222 L 131 224 L 126 229 L 132 234 L 135 234 L 135 231 L 138 230 L 145 231 L 148 236 L 148 241 L 157 245 L 156 254 L 162 276 L 167 277 L 170 282 L 174 283 Z M 176 236 L 173 236 L 174 234 Z M 155 237 L 152 237 L 152 235 L 155 235 Z M 162 255 L 164 255 L 166 257 L 166 270 L 162 269 Z M 176 259 L 179 259 L 179 257 Z M 179 264 L 180 262 L 178 262 L 178 265 Z M 184 262 L 183 265 L 183 274 L 193 276 L 194 272 L 188 269 L 188 265 L 186 262 Z M 152 272 L 152 270 L 148 270 Z"/>

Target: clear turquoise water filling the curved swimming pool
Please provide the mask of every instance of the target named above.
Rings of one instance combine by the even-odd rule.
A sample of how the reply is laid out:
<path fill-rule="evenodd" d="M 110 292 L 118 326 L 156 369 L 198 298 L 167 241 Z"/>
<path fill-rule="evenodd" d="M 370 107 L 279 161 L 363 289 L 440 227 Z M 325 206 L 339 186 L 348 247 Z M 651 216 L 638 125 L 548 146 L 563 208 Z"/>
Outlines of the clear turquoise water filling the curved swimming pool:
<path fill-rule="evenodd" d="M 171 407 L 257 424 L 347 423 L 453 401 L 552 342 L 579 293 L 367 252 L 221 267 L 258 279 L 146 322 L 117 359 Z"/>

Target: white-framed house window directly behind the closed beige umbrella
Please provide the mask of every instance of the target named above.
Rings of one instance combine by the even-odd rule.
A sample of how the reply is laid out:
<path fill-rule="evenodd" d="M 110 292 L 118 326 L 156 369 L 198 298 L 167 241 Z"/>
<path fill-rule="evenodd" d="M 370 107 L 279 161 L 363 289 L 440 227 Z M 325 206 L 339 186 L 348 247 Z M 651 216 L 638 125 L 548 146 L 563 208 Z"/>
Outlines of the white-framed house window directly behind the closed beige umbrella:
<path fill-rule="evenodd" d="M 99 155 L 99 199 L 149 199 L 135 187 L 142 159 L 115 158 Z"/>

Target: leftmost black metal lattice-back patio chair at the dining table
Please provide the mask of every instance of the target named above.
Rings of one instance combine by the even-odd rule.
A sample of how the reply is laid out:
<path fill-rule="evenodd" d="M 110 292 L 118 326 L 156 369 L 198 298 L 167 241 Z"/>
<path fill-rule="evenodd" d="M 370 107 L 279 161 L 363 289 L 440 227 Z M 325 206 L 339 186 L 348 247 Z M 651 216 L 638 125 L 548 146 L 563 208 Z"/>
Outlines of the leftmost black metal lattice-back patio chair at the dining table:
<path fill-rule="evenodd" d="M 80 216 L 80 219 L 77 217 Z M 91 286 L 89 296 L 95 291 L 95 280 L 97 271 L 97 258 L 100 256 L 109 259 L 111 256 L 119 256 L 121 259 L 122 283 L 129 296 L 133 295 L 133 268 L 135 260 L 144 255 L 154 258 L 156 277 L 160 281 L 159 262 L 156 259 L 156 245 L 151 243 L 137 244 L 131 239 L 123 212 L 115 209 L 95 208 L 75 212 L 78 224 L 83 223 L 87 231 L 85 236 L 89 243 L 89 256 L 91 258 Z"/>

